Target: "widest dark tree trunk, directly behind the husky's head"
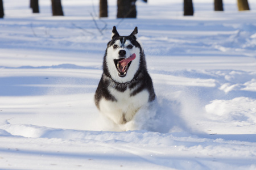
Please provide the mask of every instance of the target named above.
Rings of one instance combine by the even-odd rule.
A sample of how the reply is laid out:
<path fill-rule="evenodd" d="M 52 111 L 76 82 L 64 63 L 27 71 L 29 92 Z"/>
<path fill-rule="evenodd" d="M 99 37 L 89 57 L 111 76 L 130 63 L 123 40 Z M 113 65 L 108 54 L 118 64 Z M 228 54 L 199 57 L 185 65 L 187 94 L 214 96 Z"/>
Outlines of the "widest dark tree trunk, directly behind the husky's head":
<path fill-rule="evenodd" d="M 136 18 L 136 0 L 117 0 L 117 18 Z"/>

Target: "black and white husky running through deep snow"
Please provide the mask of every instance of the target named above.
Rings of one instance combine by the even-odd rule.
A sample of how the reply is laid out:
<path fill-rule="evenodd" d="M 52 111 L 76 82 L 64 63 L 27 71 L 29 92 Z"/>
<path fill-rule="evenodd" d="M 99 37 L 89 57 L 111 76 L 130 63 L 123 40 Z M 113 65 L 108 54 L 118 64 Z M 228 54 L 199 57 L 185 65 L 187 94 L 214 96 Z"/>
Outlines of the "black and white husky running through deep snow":
<path fill-rule="evenodd" d="M 155 92 L 147 72 L 146 59 L 137 41 L 138 28 L 129 36 L 119 36 L 115 26 L 103 61 L 103 74 L 94 95 L 102 114 L 117 125 L 133 120 L 151 105 Z"/>

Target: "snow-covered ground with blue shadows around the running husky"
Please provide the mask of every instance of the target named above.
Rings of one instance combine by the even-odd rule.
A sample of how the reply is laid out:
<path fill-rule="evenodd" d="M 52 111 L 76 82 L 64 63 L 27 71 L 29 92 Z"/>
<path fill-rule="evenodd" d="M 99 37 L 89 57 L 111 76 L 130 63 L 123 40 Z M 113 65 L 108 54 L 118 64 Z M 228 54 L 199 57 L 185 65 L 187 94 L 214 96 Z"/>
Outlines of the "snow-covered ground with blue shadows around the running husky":
<path fill-rule="evenodd" d="M 256 169 L 256 2 L 137 2 L 137 19 L 98 19 L 98 1 L 3 0 L 0 169 Z M 138 37 L 158 97 L 153 129 L 113 131 L 93 95 L 113 25 Z"/>

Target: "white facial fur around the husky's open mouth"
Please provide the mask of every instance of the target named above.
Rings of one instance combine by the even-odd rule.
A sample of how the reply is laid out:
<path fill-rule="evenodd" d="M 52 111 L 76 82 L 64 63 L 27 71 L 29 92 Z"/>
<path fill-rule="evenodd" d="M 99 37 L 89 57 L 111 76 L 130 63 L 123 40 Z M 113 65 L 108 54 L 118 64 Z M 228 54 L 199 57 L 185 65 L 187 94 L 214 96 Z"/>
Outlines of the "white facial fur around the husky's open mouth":
<path fill-rule="evenodd" d="M 109 73 L 112 76 L 112 78 L 119 83 L 130 82 L 130 80 L 134 78 L 134 75 L 139 68 L 140 49 L 136 48 L 135 46 L 133 47 L 133 49 L 127 49 L 126 46 L 130 44 L 131 42 L 129 40 L 126 40 L 124 46 L 122 46 L 121 41 L 117 40 L 115 41 L 115 45 L 118 45 L 119 48 L 113 49 L 113 47 L 111 46 L 110 48 L 107 49 L 106 62 L 109 68 Z M 115 68 L 115 64 L 114 64 L 114 59 L 118 59 L 119 50 L 126 51 L 125 58 L 129 58 L 132 54 L 136 54 L 136 58 L 131 62 L 131 65 L 127 70 L 125 77 L 120 77 L 118 75 L 117 69 Z"/>

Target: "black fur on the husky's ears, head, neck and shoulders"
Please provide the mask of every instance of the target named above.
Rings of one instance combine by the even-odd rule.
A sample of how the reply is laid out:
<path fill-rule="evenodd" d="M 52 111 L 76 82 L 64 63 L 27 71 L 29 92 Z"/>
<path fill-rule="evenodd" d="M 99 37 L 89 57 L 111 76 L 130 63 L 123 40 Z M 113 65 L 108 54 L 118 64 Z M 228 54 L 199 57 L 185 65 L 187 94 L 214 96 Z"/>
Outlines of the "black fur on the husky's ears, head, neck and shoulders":
<path fill-rule="evenodd" d="M 124 40 L 123 43 L 126 40 L 129 40 L 131 44 L 133 44 L 135 47 L 140 49 L 141 54 L 140 54 L 140 61 L 139 61 L 139 69 L 135 73 L 134 78 L 133 80 L 131 80 L 131 82 L 127 82 L 127 83 L 115 82 L 112 79 L 108 70 L 108 66 L 106 64 L 106 56 L 107 56 L 107 49 L 106 49 L 104 61 L 103 61 L 103 74 L 102 74 L 100 83 L 98 84 L 96 94 L 94 96 L 94 101 L 96 106 L 99 108 L 99 102 L 102 97 L 104 97 L 106 100 L 117 101 L 117 99 L 115 99 L 115 97 L 111 95 L 110 92 L 108 91 L 108 87 L 114 88 L 119 92 L 124 92 L 127 90 L 127 88 L 133 89 L 133 92 L 130 94 L 130 96 L 135 96 L 139 92 L 146 89 L 150 94 L 148 101 L 155 100 L 153 83 L 150 75 L 147 72 L 146 58 L 145 58 L 143 49 L 135 36 L 138 33 L 138 28 L 135 27 L 134 31 L 129 36 L 119 36 L 117 29 L 115 27 L 113 27 L 112 32 L 114 33 L 114 35 L 112 36 L 112 40 L 108 42 L 107 49 L 110 48 L 110 46 L 112 46 L 117 40 L 123 39 Z"/>

